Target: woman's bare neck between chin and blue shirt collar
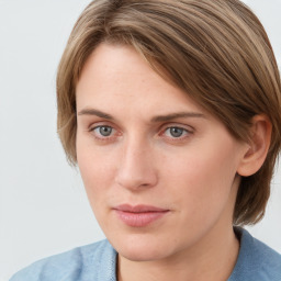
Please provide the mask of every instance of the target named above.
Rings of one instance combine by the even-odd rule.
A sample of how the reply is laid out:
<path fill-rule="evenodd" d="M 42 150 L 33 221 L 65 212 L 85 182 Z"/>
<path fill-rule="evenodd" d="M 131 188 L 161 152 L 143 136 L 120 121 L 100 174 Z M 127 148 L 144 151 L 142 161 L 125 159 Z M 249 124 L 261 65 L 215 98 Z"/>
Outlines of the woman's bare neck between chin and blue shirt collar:
<path fill-rule="evenodd" d="M 216 227 L 215 227 L 216 228 Z M 119 281 L 225 281 L 235 267 L 239 243 L 232 225 L 213 229 L 192 248 L 154 261 L 132 261 L 119 256 Z"/>

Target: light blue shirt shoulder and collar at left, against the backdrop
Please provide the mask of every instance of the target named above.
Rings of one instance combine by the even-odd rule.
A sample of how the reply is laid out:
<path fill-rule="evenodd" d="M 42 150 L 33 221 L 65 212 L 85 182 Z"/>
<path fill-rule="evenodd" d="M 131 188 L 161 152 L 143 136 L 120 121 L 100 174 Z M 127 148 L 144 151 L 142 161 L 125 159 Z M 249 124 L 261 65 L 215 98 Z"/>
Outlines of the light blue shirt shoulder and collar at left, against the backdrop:
<path fill-rule="evenodd" d="M 10 281 L 113 281 L 115 262 L 115 250 L 108 240 L 102 240 L 42 259 Z"/>

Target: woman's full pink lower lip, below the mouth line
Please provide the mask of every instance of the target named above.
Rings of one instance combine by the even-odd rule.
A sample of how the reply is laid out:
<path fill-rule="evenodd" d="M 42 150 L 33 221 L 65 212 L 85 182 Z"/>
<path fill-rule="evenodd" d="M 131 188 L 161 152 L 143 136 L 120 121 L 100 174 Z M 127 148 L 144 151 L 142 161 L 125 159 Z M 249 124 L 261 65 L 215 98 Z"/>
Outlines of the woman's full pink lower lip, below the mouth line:
<path fill-rule="evenodd" d="M 159 218 L 165 216 L 169 211 L 132 213 L 115 210 L 115 212 L 117 213 L 119 218 L 126 225 L 132 227 L 144 227 L 158 221 Z"/>

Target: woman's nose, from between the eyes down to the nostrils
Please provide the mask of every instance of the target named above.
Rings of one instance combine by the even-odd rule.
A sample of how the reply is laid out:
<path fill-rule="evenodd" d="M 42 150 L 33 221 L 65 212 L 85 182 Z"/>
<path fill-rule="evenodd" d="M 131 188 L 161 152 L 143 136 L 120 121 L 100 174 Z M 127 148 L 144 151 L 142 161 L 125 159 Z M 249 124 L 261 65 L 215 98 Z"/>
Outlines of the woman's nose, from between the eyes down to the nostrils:
<path fill-rule="evenodd" d="M 151 148 L 144 142 L 126 144 L 116 173 L 116 183 L 131 190 L 155 187 L 158 181 Z"/>

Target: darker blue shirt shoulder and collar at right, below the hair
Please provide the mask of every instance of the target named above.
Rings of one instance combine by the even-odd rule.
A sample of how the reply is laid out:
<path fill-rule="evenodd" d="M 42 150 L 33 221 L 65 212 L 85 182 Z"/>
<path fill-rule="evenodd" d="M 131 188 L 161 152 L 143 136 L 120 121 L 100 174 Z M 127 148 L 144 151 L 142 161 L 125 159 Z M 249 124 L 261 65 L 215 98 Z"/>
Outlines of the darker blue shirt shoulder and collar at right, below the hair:
<path fill-rule="evenodd" d="M 240 250 L 228 281 L 281 281 L 281 255 L 254 238 L 247 231 L 236 231 L 240 235 Z"/>

